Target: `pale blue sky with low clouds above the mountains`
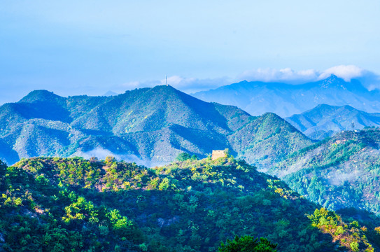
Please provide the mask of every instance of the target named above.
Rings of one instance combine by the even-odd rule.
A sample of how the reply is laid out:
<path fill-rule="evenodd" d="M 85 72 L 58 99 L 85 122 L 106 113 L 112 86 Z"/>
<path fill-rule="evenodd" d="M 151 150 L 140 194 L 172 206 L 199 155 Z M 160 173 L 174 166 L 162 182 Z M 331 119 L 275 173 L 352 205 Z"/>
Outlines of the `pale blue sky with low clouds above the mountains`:
<path fill-rule="evenodd" d="M 164 82 L 184 92 L 239 80 L 338 73 L 380 87 L 380 1 L 0 3 L 0 104 Z"/>

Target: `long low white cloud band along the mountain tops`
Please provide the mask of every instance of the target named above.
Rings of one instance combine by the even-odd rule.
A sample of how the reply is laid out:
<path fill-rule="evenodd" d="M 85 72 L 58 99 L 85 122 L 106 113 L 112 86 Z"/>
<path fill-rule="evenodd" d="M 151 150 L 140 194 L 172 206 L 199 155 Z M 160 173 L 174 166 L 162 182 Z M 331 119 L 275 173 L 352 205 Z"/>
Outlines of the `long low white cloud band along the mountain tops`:
<path fill-rule="evenodd" d="M 247 81 L 263 81 L 263 82 L 280 82 L 293 85 L 324 80 L 334 74 L 335 76 L 349 82 L 353 79 L 360 80 L 368 90 L 380 89 L 380 77 L 376 73 L 367 71 L 355 65 L 339 65 L 332 66 L 324 71 L 316 69 L 293 70 L 285 69 L 251 69 L 240 73 L 235 78 L 185 78 L 182 76 L 168 76 L 167 83 L 178 90 L 188 94 L 211 90 L 223 85 L 229 85 L 242 80 Z M 133 90 L 141 87 L 154 87 L 155 85 L 165 85 L 166 79 L 150 80 L 145 82 L 132 81 L 118 85 L 113 91 L 122 93 L 125 90 Z"/>

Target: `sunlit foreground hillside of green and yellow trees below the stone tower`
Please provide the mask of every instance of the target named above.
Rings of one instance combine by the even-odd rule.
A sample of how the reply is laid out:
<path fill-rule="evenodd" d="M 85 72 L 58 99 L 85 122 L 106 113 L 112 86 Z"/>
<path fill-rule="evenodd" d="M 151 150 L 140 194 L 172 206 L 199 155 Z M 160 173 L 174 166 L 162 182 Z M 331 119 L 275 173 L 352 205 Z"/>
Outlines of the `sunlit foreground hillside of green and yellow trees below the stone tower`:
<path fill-rule="evenodd" d="M 32 158 L 1 164 L 0 190 L 5 251 L 216 251 L 235 235 L 278 251 L 373 251 L 380 239 L 232 156 L 153 169 Z"/>

